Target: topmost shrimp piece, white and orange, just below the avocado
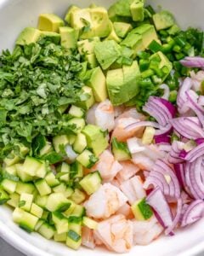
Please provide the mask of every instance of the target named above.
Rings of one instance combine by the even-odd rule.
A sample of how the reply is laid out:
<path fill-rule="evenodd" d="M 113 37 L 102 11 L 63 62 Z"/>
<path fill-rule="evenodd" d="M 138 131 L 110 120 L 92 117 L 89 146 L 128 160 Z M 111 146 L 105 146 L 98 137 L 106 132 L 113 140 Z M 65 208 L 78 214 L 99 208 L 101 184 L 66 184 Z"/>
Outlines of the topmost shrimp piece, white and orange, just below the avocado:
<path fill-rule="evenodd" d="M 98 125 L 102 130 L 112 131 L 115 126 L 114 108 L 109 100 L 94 104 L 87 113 L 88 124 Z"/>

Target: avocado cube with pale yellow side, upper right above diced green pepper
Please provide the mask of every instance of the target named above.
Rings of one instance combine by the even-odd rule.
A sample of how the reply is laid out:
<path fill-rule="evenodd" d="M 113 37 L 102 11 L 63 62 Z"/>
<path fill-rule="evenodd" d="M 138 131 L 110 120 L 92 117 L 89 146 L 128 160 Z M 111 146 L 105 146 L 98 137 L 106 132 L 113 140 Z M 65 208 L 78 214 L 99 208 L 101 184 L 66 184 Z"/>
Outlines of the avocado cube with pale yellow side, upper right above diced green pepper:
<path fill-rule="evenodd" d="M 134 28 L 130 33 L 139 34 L 142 36 L 144 49 L 146 49 L 153 40 L 156 40 L 158 43 L 160 42 L 157 37 L 155 27 L 150 24 L 138 26 Z"/>

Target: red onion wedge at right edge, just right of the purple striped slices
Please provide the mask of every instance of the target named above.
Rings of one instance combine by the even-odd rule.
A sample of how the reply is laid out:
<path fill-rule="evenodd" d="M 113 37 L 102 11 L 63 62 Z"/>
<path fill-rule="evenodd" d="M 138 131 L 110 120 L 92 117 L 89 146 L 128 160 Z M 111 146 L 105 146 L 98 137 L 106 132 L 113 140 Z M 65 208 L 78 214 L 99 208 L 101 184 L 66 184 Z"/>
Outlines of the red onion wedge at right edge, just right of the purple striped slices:
<path fill-rule="evenodd" d="M 196 139 L 199 137 L 204 137 L 204 131 L 201 125 L 195 122 L 196 118 L 192 117 L 180 117 L 177 119 L 171 119 L 169 122 L 173 125 L 173 128 L 178 131 L 178 133 L 189 139 Z"/>

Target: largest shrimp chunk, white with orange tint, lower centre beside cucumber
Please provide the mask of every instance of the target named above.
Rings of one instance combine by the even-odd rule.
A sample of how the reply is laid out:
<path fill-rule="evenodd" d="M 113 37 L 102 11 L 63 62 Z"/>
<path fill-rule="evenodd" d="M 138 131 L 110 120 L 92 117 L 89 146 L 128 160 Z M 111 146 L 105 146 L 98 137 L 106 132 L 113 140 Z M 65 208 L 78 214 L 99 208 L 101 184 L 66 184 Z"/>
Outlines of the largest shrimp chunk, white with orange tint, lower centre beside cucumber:
<path fill-rule="evenodd" d="M 89 217 L 109 218 L 127 202 L 127 197 L 111 183 L 101 185 L 99 190 L 84 203 Z"/>

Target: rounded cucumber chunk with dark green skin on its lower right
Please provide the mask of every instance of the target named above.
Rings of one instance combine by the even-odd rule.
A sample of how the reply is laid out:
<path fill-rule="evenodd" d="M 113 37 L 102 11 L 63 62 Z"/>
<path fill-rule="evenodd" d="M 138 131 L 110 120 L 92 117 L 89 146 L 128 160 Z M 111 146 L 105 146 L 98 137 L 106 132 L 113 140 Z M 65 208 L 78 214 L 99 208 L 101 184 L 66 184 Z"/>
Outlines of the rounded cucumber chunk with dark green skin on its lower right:
<path fill-rule="evenodd" d="M 46 208 L 49 212 L 65 212 L 71 207 L 71 202 L 62 193 L 53 193 L 48 196 Z"/>

